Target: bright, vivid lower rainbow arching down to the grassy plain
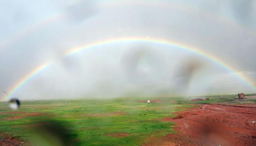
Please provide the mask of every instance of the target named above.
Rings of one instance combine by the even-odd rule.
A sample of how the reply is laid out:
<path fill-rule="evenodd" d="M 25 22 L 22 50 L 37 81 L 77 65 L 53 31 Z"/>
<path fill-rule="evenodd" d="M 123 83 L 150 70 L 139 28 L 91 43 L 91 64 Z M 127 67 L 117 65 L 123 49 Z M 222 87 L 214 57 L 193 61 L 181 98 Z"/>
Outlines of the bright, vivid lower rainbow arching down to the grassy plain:
<path fill-rule="evenodd" d="M 129 38 L 106 39 L 106 40 L 97 41 L 97 42 L 93 42 L 93 43 L 88 43 L 88 44 L 85 44 L 85 45 L 82 45 L 82 46 L 78 46 L 78 47 L 69 49 L 69 51 L 63 53 L 62 56 L 63 57 L 70 56 L 70 55 L 73 55 L 75 53 L 84 51 L 85 49 L 94 48 L 94 47 L 100 47 L 100 46 L 105 46 L 105 45 L 110 45 L 110 44 L 115 44 L 115 43 L 133 43 L 133 42 L 157 43 L 157 44 L 172 46 L 172 47 L 182 49 L 182 50 L 185 50 L 185 51 L 189 51 L 189 52 L 192 52 L 192 53 L 196 53 L 200 56 L 203 56 L 203 57 L 209 59 L 210 61 L 214 62 L 215 64 L 218 64 L 218 65 L 226 68 L 230 72 L 233 72 L 235 75 L 237 75 L 237 77 L 240 77 L 247 85 L 249 85 L 250 88 L 252 88 L 254 91 L 256 91 L 256 86 L 253 84 L 253 82 L 251 82 L 248 78 L 246 78 L 245 75 L 243 75 L 241 72 L 238 72 L 232 66 L 230 66 L 228 64 L 225 64 L 223 61 L 216 58 L 215 56 L 213 56 L 213 55 L 211 55 L 207 52 L 203 52 L 200 49 L 193 48 L 193 47 L 187 46 L 187 45 L 183 45 L 183 44 L 178 43 L 178 42 L 172 42 L 170 40 L 161 39 L 161 38 L 129 37 Z M 7 95 L 6 98 L 4 98 L 4 100 L 8 100 L 10 97 L 12 97 L 12 95 L 14 93 L 16 93 L 16 91 L 19 88 L 22 87 L 22 85 L 24 85 L 29 79 L 31 79 L 32 77 L 34 77 L 35 75 L 37 75 L 38 73 L 43 71 L 47 66 L 51 65 L 52 62 L 54 62 L 54 60 L 45 62 L 45 63 L 37 66 L 35 69 L 33 69 L 27 75 L 25 75 L 25 77 L 21 78 L 21 80 L 19 80 L 12 88 L 10 88 L 10 90 L 7 92 L 8 95 Z"/>

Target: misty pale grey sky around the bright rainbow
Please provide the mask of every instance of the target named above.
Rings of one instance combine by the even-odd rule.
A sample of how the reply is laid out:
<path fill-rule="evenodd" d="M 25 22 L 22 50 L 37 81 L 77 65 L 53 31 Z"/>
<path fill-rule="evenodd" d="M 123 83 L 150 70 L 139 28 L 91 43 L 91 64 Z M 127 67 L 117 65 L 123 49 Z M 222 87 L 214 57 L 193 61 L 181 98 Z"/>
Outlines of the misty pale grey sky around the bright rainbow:
<path fill-rule="evenodd" d="M 159 43 L 111 43 L 62 55 L 100 40 L 161 38 L 215 56 L 256 86 L 254 0 L 2 0 L 0 32 L 2 93 L 54 59 L 13 94 L 20 99 L 256 92 L 207 57 Z"/>

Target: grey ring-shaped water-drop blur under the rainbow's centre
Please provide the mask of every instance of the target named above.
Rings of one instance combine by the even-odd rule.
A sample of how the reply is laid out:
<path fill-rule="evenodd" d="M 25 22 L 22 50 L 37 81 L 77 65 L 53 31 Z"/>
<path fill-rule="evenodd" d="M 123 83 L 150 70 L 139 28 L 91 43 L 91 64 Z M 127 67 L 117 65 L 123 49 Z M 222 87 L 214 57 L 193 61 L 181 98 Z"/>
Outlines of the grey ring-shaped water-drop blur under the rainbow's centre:
<path fill-rule="evenodd" d="M 159 76 L 161 74 L 159 71 L 163 69 L 162 55 L 148 46 L 131 48 L 122 58 L 122 67 L 129 80 L 138 81 L 147 77 L 152 80 L 153 77 Z"/>

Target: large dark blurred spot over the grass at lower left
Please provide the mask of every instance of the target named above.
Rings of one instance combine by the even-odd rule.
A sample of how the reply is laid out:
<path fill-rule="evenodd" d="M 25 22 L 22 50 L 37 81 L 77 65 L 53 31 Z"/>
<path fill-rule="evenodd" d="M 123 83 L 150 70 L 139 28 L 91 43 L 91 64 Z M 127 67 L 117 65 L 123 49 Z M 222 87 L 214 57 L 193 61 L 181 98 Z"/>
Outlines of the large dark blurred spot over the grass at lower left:
<path fill-rule="evenodd" d="M 71 146 L 77 135 L 65 127 L 61 123 L 43 121 L 31 128 L 30 141 L 34 146 Z"/>

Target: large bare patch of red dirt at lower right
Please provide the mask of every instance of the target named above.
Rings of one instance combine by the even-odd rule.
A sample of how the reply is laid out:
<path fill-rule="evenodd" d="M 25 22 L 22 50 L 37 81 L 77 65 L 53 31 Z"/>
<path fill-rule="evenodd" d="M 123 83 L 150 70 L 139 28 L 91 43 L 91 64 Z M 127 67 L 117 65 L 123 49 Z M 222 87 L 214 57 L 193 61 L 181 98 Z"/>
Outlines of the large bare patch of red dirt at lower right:
<path fill-rule="evenodd" d="M 162 137 L 162 146 L 256 146 L 256 108 L 202 104 L 176 114 L 182 118 L 162 119 L 177 123 L 178 132 Z"/>

